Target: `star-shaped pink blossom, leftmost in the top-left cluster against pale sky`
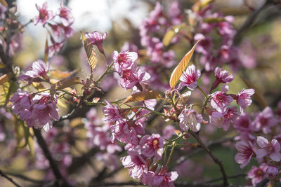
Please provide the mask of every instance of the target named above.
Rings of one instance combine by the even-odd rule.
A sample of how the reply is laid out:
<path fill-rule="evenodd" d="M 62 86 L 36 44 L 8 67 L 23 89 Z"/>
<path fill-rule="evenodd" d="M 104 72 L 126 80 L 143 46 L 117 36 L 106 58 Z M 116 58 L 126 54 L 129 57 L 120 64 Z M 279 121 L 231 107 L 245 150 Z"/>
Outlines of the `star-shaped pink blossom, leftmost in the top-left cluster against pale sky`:
<path fill-rule="evenodd" d="M 53 19 L 52 11 L 47 10 L 47 7 L 48 7 L 47 2 L 45 2 L 41 8 L 37 4 L 35 6 L 36 6 L 37 10 L 39 11 L 39 15 L 34 17 L 34 21 L 33 21 L 34 25 L 37 25 L 38 22 L 41 22 L 44 26 L 44 25 L 46 25 L 48 20 Z"/>

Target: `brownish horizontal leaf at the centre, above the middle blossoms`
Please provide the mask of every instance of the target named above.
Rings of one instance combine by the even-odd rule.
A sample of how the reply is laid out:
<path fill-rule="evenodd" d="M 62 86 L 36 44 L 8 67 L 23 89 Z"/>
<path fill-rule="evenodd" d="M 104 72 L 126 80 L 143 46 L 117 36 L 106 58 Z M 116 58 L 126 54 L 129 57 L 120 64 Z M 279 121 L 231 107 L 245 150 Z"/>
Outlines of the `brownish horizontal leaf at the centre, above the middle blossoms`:
<path fill-rule="evenodd" d="M 148 99 L 160 99 L 162 98 L 160 92 L 158 91 L 144 91 L 144 92 L 136 92 L 129 97 L 127 97 L 123 103 L 127 102 L 139 102 Z"/>

